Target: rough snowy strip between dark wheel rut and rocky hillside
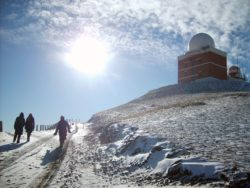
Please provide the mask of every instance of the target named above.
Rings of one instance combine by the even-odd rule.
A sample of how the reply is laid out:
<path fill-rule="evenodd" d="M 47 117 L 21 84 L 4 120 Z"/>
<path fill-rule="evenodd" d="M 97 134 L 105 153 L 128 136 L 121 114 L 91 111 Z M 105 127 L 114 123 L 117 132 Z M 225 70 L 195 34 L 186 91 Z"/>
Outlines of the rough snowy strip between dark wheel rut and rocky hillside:
<path fill-rule="evenodd" d="M 60 165 L 54 178 L 48 184 L 49 188 L 57 187 L 108 187 L 110 185 L 101 176 L 97 176 L 93 169 L 93 161 L 89 152 L 94 154 L 94 143 L 88 142 L 89 134 L 86 124 L 79 127 L 76 137 L 70 140 L 67 155 Z M 88 135 L 90 136 L 90 135 Z M 90 137 L 93 137 L 92 135 Z"/>

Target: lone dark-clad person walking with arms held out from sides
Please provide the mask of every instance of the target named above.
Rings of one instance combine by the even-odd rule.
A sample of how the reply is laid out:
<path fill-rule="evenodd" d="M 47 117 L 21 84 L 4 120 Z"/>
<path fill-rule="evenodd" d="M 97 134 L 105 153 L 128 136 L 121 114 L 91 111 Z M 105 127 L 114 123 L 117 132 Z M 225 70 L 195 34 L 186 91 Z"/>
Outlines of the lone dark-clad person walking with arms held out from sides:
<path fill-rule="evenodd" d="M 63 147 L 63 143 L 67 137 L 67 131 L 70 132 L 69 123 L 64 119 L 64 116 L 61 116 L 60 121 L 57 123 L 56 132 L 54 135 L 57 135 L 59 131 L 59 140 L 60 140 L 60 147 Z"/>

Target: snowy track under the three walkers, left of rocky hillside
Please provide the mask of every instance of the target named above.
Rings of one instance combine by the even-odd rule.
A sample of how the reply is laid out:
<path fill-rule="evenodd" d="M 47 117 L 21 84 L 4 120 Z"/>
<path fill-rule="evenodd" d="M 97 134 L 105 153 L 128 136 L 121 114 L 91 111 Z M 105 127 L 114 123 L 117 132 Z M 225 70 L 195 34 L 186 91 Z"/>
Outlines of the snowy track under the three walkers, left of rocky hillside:
<path fill-rule="evenodd" d="M 76 124 L 62 149 L 53 131 L 34 132 L 29 143 L 23 135 L 20 144 L 12 143 L 13 135 L 0 133 L 0 187 L 128 187 L 96 173 L 94 143 L 85 138 L 89 126 Z"/>

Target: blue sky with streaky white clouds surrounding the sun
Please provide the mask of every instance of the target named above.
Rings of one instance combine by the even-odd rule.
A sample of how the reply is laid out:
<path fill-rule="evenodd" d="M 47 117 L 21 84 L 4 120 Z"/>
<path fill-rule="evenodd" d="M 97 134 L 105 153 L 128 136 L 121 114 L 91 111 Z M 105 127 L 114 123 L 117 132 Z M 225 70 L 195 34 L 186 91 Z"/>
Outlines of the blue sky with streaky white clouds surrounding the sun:
<path fill-rule="evenodd" d="M 6 0 L 0 14 L 0 120 L 8 131 L 20 112 L 32 112 L 37 124 L 60 115 L 87 121 L 176 84 L 177 56 L 200 32 L 228 53 L 228 66 L 238 59 L 250 73 L 249 0 Z M 100 74 L 65 63 L 82 36 L 109 45 Z"/>

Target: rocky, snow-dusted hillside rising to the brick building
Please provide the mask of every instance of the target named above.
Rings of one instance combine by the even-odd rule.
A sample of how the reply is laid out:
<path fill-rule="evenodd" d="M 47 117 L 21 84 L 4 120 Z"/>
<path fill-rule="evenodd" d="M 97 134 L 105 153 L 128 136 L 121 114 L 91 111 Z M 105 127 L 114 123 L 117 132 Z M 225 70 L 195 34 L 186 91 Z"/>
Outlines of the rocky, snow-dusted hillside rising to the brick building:
<path fill-rule="evenodd" d="M 208 78 L 95 114 L 97 150 L 114 163 L 108 172 L 100 165 L 101 173 L 127 174 L 137 184 L 249 186 L 249 91 L 246 82 Z"/>

